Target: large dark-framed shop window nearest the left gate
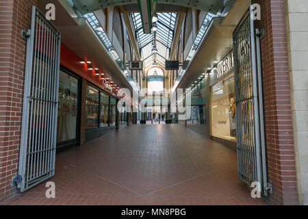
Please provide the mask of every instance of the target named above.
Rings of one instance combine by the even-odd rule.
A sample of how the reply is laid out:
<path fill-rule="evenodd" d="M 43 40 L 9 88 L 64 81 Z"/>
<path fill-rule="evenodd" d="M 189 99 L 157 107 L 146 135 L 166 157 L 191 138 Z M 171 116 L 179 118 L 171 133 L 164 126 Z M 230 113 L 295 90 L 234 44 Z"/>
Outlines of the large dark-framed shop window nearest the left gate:
<path fill-rule="evenodd" d="M 76 138 L 78 104 L 78 79 L 60 70 L 57 142 Z"/>

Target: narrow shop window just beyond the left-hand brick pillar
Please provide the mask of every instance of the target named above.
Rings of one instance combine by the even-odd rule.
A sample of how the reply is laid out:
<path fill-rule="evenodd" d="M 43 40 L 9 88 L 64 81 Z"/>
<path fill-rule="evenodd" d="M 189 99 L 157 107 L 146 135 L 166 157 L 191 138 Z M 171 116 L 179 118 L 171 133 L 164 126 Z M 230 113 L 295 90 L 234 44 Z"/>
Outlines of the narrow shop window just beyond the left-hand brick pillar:
<path fill-rule="evenodd" d="M 87 127 L 97 128 L 99 126 L 99 90 L 87 85 Z"/>

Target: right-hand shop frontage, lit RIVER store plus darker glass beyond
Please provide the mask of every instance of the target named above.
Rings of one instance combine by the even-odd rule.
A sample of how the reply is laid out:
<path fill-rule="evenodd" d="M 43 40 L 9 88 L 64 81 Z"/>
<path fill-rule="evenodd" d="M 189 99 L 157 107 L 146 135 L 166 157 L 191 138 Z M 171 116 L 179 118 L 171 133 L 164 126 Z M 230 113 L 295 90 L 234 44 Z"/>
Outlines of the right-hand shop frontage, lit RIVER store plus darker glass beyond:
<path fill-rule="evenodd" d="M 233 52 L 207 69 L 191 87 L 186 127 L 236 149 Z"/>

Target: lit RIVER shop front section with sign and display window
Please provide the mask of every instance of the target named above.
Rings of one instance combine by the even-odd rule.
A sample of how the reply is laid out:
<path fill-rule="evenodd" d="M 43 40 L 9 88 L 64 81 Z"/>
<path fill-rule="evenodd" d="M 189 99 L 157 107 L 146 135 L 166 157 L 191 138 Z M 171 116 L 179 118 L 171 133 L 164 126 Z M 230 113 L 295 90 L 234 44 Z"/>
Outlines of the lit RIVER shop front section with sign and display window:
<path fill-rule="evenodd" d="M 210 136 L 236 146 L 233 52 L 209 71 Z"/>

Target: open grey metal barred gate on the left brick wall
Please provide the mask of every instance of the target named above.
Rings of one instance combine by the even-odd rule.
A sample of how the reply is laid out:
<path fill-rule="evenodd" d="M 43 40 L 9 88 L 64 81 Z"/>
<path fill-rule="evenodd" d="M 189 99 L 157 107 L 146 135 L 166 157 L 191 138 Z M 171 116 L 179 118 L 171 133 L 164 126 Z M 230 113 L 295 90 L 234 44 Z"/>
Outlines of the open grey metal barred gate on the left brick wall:
<path fill-rule="evenodd" d="M 60 32 L 36 7 L 27 39 L 18 177 L 21 192 L 55 174 Z"/>

